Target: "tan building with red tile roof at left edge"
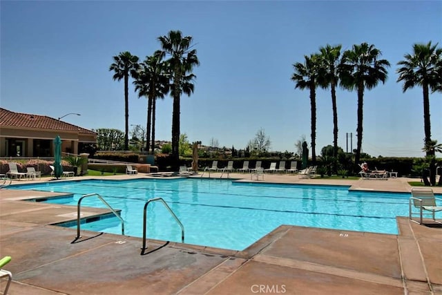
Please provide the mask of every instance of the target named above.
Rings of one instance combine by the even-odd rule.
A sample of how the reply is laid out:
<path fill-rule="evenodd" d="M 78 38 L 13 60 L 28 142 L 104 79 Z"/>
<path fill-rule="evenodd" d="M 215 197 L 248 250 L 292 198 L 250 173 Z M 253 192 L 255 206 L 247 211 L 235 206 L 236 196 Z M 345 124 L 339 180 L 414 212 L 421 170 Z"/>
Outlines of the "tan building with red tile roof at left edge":
<path fill-rule="evenodd" d="M 97 133 L 43 115 L 0 108 L 0 157 L 52 157 L 59 135 L 64 153 L 79 154 L 97 143 Z"/>

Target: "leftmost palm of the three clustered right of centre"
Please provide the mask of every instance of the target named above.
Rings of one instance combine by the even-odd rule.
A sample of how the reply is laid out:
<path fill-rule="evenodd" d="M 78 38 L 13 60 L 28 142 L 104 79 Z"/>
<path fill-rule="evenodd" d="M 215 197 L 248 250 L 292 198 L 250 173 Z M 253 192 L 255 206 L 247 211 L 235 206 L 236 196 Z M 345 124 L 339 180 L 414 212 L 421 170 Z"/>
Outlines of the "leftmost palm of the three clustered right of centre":
<path fill-rule="evenodd" d="M 311 160 L 316 164 L 316 84 L 318 79 L 319 55 L 304 55 L 304 64 L 293 64 L 294 74 L 291 80 L 295 82 L 295 88 L 310 90 L 311 109 Z"/>

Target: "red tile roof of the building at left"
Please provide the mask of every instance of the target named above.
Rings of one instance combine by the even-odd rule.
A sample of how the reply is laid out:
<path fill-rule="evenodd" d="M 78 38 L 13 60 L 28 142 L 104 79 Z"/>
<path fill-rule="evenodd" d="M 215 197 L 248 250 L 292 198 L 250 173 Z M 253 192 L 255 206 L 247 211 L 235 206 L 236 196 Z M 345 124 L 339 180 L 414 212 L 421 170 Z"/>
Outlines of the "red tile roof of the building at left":
<path fill-rule="evenodd" d="M 0 108 L 0 127 L 19 127 L 26 129 L 50 129 L 59 131 L 75 131 L 78 133 L 96 134 L 88 129 L 75 126 L 57 119 L 32 115 L 25 113 L 15 113 L 5 108 Z"/>

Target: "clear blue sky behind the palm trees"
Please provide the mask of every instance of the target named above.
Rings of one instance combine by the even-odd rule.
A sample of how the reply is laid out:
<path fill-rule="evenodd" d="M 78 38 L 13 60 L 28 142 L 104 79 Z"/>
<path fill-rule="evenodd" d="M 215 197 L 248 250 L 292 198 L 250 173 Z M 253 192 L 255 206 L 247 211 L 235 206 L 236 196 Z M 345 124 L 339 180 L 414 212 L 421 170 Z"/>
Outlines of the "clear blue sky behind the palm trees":
<path fill-rule="evenodd" d="M 124 131 L 124 83 L 112 57 L 140 59 L 169 30 L 191 35 L 200 59 L 195 93 L 181 99 L 191 142 L 242 149 L 259 129 L 273 151 L 310 142 L 309 92 L 294 88 L 295 62 L 326 44 L 374 44 L 387 82 L 364 97 L 363 152 L 422 156 L 421 88 L 402 92 L 396 63 L 412 44 L 442 46 L 442 1 L 1 1 L 2 108 L 60 117 L 87 129 Z M 356 92 L 339 89 L 338 145 L 356 133 Z M 316 153 L 332 144 L 329 90 L 317 92 Z M 146 99 L 129 88 L 129 124 L 146 125 Z M 442 142 L 442 94 L 430 95 L 432 138 Z M 171 140 L 172 99 L 157 103 L 158 140 Z M 353 137 L 356 148 L 356 136 Z"/>

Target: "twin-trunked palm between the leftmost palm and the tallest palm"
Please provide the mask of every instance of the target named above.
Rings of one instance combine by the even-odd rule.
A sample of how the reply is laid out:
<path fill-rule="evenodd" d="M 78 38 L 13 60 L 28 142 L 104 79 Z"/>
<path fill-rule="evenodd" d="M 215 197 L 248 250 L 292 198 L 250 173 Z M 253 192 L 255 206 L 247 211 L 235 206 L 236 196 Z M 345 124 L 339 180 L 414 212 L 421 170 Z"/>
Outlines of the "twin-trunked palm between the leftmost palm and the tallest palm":
<path fill-rule="evenodd" d="M 146 57 L 140 64 L 138 77 L 135 79 L 135 91 L 138 97 L 147 97 L 147 125 L 146 125 L 146 152 L 149 152 L 151 143 L 152 126 L 152 154 L 155 149 L 155 102 L 157 98 L 164 98 L 169 92 L 169 76 L 165 73 L 164 54 L 161 50 L 155 51 L 153 55 Z"/>

